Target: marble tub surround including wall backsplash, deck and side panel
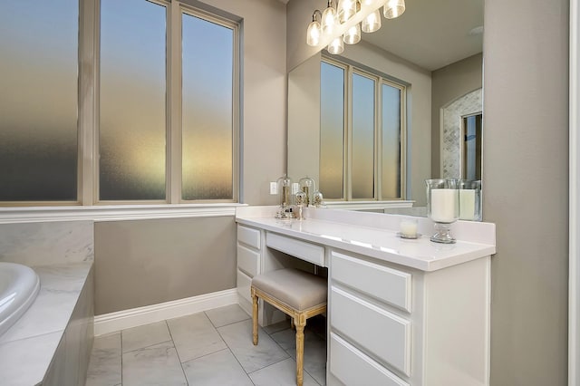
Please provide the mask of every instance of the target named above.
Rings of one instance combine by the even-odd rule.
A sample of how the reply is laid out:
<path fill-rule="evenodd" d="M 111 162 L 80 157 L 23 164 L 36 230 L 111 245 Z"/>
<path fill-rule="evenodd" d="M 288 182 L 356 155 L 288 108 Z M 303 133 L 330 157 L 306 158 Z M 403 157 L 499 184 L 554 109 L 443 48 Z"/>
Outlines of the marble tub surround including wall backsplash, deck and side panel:
<path fill-rule="evenodd" d="M 0 261 L 32 267 L 41 284 L 34 303 L 0 336 L 0 383 L 84 382 L 93 334 L 93 238 L 88 220 L 0 224 Z"/>

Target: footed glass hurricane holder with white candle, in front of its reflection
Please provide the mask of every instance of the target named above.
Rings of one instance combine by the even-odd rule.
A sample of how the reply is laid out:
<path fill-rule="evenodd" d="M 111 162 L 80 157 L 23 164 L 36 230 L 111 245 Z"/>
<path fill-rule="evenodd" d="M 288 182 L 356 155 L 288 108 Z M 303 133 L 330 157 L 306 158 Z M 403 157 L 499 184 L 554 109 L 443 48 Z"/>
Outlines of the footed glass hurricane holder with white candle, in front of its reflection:
<path fill-rule="evenodd" d="M 427 216 L 435 223 L 435 243 L 455 243 L 450 226 L 459 219 L 459 190 L 457 179 L 426 179 Z"/>

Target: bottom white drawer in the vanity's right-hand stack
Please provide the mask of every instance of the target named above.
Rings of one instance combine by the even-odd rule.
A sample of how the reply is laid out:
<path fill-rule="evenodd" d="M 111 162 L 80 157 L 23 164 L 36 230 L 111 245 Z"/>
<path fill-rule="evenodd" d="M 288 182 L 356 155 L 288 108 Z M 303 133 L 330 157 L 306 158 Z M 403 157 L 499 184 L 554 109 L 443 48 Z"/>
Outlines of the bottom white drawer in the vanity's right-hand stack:
<path fill-rule="evenodd" d="M 330 352 L 330 372 L 345 385 L 409 386 L 335 333 L 330 333 Z"/>

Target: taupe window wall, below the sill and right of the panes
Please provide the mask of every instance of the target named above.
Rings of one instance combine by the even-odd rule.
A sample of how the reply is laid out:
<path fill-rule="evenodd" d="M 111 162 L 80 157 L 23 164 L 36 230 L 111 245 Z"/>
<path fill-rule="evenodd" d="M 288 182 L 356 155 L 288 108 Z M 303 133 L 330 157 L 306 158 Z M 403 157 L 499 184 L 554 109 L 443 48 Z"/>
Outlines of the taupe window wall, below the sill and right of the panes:
<path fill-rule="evenodd" d="M 269 181 L 285 172 L 285 5 L 272 0 L 188 0 L 242 20 L 242 202 L 275 205 Z M 95 225 L 95 314 L 236 286 L 233 217 Z"/>

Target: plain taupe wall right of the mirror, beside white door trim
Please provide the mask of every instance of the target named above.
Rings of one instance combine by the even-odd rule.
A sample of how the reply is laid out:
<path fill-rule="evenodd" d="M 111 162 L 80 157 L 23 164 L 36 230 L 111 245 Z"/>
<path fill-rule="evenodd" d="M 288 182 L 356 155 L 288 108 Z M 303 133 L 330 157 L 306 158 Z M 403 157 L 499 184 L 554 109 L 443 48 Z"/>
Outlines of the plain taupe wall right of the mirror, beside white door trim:
<path fill-rule="evenodd" d="M 487 0 L 483 52 L 491 384 L 565 385 L 568 1 Z"/>

